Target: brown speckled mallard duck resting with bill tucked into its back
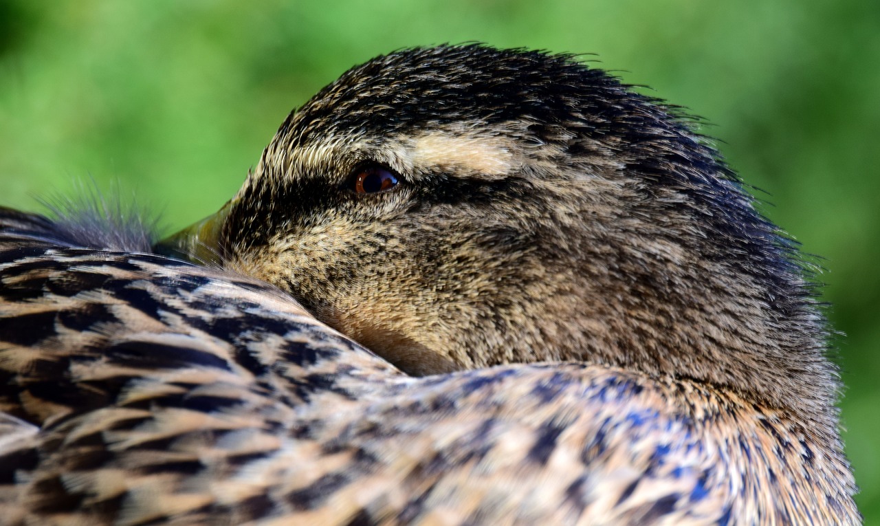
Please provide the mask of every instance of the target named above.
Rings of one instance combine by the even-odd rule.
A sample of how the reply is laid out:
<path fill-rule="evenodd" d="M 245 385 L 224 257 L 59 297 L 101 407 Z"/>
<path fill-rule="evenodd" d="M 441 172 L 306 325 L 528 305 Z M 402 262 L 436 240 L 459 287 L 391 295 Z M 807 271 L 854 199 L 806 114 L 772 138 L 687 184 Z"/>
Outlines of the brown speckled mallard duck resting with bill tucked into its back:
<path fill-rule="evenodd" d="M 796 246 L 573 56 L 380 56 L 119 219 L 0 214 L 4 523 L 861 522 Z"/>

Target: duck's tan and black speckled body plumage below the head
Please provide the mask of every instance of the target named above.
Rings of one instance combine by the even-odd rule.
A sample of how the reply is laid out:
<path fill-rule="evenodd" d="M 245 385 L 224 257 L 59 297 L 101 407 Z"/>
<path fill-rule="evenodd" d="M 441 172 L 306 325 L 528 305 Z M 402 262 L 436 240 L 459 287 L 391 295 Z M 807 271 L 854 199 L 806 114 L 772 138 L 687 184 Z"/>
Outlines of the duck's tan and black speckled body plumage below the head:
<path fill-rule="evenodd" d="M 853 513 L 834 488 L 772 478 L 846 471 L 778 412 L 577 364 L 412 378 L 264 283 L 41 243 L 33 224 L 0 237 L 4 523 Z"/>

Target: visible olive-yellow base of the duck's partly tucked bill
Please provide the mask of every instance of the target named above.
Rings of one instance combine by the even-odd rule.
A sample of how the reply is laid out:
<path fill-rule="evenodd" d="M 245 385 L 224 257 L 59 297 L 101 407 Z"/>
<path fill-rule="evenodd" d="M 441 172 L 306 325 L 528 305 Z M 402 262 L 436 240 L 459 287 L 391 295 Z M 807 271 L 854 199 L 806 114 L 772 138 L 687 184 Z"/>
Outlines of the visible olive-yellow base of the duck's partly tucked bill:
<path fill-rule="evenodd" d="M 153 245 L 153 251 L 198 265 L 222 266 L 220 234 L 234 203 L 235 200 L 231 200 L 213 216 L 205 217 L 202 221 L 165 237 Z"/>

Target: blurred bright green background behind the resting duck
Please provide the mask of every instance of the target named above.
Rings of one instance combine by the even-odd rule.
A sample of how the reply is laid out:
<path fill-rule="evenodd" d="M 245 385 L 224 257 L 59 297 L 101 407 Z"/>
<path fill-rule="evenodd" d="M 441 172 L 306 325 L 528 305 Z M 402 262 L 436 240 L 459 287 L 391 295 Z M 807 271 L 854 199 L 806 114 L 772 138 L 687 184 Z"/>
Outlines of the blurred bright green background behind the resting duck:
<path fill-rule="evenodd" d="M 294 106 L 398 47 L 595 53 L 711 126 L 822 255 L 847 451 L 880 523 L 880 2 L 0 0 L 0 204 L 102 188 L 177 229 L 231 197 Z"/>

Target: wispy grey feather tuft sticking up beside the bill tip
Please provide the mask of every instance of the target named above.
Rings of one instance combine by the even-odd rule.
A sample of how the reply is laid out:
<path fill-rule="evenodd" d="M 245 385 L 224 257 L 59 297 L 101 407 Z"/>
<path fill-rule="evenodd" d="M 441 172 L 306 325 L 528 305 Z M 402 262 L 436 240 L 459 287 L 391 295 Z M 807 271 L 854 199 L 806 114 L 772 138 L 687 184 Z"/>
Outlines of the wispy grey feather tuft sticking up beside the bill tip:
<path fill-rule="evenodd" d="M 152 252 L 158 240 L 158 215 L 141 207 L 134 195 L 123 198 L 118 185 L 109 192 L 77 182 L 71 195 L 38 198 L 48 208 L 55 233 L 71 245 L 112 251 Z"/>

